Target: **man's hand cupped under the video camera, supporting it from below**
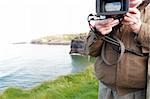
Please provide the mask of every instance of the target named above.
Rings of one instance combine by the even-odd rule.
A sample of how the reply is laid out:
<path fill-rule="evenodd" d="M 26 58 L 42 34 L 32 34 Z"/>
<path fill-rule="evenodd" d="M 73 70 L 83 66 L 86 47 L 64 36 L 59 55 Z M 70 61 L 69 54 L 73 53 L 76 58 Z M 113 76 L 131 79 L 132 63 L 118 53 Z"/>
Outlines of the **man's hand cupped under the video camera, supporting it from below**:
<path fill-rule="evenodd" d="M 119 24 L 118 19 L 114 20 L 113 18 L 109 18 L 105 20 L 96 21 L 95 27 L 102 35 L 106 35 L 112 31 L 112 27 L 118 24 Z"/>

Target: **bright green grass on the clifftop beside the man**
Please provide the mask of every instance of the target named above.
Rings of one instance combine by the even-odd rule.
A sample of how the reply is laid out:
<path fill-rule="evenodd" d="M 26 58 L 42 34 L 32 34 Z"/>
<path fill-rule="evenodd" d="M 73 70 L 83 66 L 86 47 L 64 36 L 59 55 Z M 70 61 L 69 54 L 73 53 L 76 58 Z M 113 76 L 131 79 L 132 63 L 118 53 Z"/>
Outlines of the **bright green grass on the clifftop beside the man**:
<path fill-rule="evenodd" d="M 43 82 L 32 89 L 9 88 L 0 99 L 97 99 L 97 93 L 98 81 L 90 67 L 84 72 Z"/>

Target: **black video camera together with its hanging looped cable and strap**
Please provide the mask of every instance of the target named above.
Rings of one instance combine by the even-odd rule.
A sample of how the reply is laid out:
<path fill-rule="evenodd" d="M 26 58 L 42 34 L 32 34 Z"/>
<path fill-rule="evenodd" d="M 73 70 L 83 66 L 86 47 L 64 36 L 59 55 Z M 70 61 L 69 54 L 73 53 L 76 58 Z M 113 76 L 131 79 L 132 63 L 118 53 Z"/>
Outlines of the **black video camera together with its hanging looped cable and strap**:
<path fill-rule="evenodd" d="M 123 20 L 124 15 L 128 12 L 128 9 L 129 0 L 96 0 L 96 15 L 90 14 L 87 18 L 92 33 L 94 33 L 96 37 L 99 37 L 98 39 L 104 41 L 101 49 L 101 58 L 109 66 L 119 63 L 125 51 L 131 52 L 129 49 L 126 49 L 123 42 L 121 42 L 121 40 L 116 37 L 116 31 L 122 26 L 121 21 Z M 96 29 L 96 27 L 91 24 L 91 21 L 103 20 L 106 18 L 118 19 L 120 23 L 112 28 L 111 33 L 107 35 L 102 35 Z M 109 60 L 105 56 L 107 43 L 116 46 L 117 49 L 113 49 L 120 54 L 117 61 L 113 63 L 109 62 Z"/>

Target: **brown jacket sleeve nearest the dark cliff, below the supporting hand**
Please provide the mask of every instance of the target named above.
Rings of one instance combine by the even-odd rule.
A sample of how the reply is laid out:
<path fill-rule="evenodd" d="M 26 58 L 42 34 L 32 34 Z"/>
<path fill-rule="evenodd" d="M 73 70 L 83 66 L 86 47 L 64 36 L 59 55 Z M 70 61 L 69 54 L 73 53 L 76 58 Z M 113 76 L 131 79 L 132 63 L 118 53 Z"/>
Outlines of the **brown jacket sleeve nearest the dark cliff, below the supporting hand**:
<path fill-rule="evenodd" d="M 93 57 L 100 55 L 102 43 L 103 41 L 100 39 L 100 37 L 96 36 L 92 31 L 90 31 L 87 36 L 88 55 Z"/>

